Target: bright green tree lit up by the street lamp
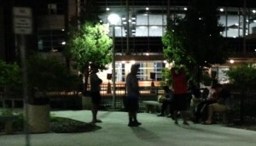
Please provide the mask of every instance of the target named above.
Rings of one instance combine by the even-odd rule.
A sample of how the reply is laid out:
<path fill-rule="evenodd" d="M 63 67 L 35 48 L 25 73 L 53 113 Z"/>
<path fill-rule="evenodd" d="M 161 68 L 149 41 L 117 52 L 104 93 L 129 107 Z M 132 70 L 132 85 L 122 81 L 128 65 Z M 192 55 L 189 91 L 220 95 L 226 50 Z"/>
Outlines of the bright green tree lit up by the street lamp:
<path fill-rule="evenodd" d="M 80 29 L 70 32 L 66 51 L 84 76 L 84 92 L 87 91 L 90 66 L 106 70 L 106 66 L 112 61 L 112 44 L 112 39 L 108 36 L 108 25 L 86 22 Z"/>

